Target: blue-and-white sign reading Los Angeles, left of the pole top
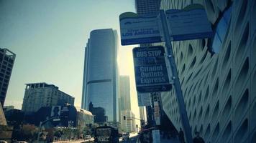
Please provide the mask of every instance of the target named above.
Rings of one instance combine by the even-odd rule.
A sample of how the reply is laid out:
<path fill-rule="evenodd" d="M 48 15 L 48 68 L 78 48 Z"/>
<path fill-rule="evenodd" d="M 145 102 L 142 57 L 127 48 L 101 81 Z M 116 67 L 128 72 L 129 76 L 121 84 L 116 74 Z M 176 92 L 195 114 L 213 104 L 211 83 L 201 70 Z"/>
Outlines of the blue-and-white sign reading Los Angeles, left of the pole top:
<path fill-rule="evenodd" d="M 139 16 L 125 12 L 119 16 L 121 44 L 145 44 L 161 41 L 157 16 Z"/>

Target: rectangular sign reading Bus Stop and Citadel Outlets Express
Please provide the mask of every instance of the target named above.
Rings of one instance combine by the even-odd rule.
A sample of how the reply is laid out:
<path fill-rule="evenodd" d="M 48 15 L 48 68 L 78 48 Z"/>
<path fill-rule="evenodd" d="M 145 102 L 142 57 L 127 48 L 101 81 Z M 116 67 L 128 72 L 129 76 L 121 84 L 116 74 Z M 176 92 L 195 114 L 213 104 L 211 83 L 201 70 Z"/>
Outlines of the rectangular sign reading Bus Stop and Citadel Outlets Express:
<path fill-rule="evenodd" d="M 137 92 L 169 91 L 163 46 L 137 47 L 132 52 Z"/>

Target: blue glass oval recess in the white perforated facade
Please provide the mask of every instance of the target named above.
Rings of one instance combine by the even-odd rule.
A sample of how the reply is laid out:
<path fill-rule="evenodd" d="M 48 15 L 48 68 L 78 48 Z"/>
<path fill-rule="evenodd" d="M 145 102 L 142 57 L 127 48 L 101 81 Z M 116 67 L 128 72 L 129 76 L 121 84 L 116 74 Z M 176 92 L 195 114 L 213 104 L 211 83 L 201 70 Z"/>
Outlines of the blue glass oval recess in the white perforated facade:
<path fill-rule="evenodd" d="M 231 11 L 232 11 L 232 6 L 229 6 L 227 10 L 225 10 L 221 16 L 219 21 L 216 23 L 215 29 L 214 29 L 214 38 L 211 39 L 211 46 L 209 51 L 212 54 L 219 53 L 221 51 L 221 47 L 223 44 L 224 39 L 226 38 L 226 34 L 229 31 L 229 23 L 231 19 Z"/>

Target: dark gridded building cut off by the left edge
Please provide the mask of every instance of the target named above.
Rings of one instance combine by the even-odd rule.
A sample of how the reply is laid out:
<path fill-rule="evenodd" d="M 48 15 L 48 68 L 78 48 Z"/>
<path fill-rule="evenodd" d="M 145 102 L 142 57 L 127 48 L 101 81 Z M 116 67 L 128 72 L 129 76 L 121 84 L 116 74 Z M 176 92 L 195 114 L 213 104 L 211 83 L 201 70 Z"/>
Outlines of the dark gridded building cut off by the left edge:
<path fill-rule="evenodd" d="M 4 100 L 11 78 L 15 56 L 12 51 L 0 48 L 0 102 L 2 107 L 4 107 Z"/>

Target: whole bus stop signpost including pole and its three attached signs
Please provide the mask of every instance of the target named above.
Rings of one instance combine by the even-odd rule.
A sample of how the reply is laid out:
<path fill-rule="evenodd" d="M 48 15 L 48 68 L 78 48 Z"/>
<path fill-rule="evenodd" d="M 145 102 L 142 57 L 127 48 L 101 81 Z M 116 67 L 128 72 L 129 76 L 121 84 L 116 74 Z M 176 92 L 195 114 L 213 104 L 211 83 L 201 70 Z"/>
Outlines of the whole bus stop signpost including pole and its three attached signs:
<path fill-rule="evenodd" d="M 141 17 L 137 16 L 136 14 L 121 14 L 120 29 L 122 34 L 122 45 L 157 42 L 157 40 L 149 39 L 154 37 L 152 36 L 154 34 L 153 31 L 160 31 L 159 29 L 161 29 L 160 33 L 163 34 L 164 39 L 158 39 L 159 35 L 161 34 L 157 34 L 157 39 L 158 41 L 165 41 L 165 51 L 170 63 L 170 69 L 173 74 L 172 79 L 173 85 L 175 87 L 175 95 L 178 101 L 178 111 L 180 112 L 181 124 L 185 132 L 186 141 L 188 143 L 192 143 L 192 134 L 188 121 L 188 114 L 184 104 L 183 93 L 180 87 L 180 80 L 178 78 L 177 67 L 175 64 L 173 49 L 170 41 L 204 39 L 212 37 L 214 34 L 211 31 L 211 24 L 207 19 L 204 6 L 201 6 L 200 4 L 192 4 L 183 10 L 171 9 L 166 11 L 166 14 L 168 21 L 165 16 L 165 11 L 163 10 L 160 10 L 160 21 L 158 21 L 159 19 L 155 19 L 155 17 L 154 19 L 147 19 L 144 17 L 142 21 L 140 19 Z M 126 20 L 124 21 L 124 19 Z M 150 23 L 154 24 L 150 25 Z M 155 23 L 160 24 L 160 28 L 159 25 L 155 26 Z M 151 31 L 147 30 L 147 32 L 145 32 L 143 31 L 144 28 L 151 29 Z M 152 31 L 152 29 L 154 30 Z M 137 32 L 140 33 L 140 36 L 137 36 Z M 156 33 L 157 32 L 155 32 L 155 34 Z M 151 51 L 151 47 L 140 49 L 135 48 L 133 50 L 135 79 L 138 92 L 163 92 L 170 90 L 170 86 L 168 85 L 169 81 L 166 81 L 168 79 L 168 73 L 167 71 L 165 72 L 166 66 L 159 66 L 160 63 L 163 65 L 163 62 L 161 61 L 164 60 L 159 57 L 163 56 L 160 54 L 164 53 L 164 49 L 160 48 L 160 46 L 157 47 L 158 48 L 153 46 L 152 48 L 152 51 L 155 53 L 154 56 L 149 56 L 148 51 Z M 157 73 L 158 71 L 161 73 Z M 152 72 L 152 74 L 148 74 L 147 72 Z M 162 77 L 165 80 L 163 80 Z"/>

